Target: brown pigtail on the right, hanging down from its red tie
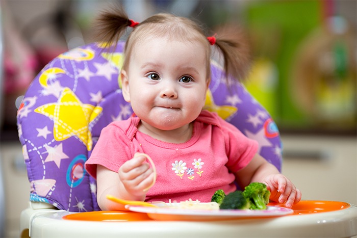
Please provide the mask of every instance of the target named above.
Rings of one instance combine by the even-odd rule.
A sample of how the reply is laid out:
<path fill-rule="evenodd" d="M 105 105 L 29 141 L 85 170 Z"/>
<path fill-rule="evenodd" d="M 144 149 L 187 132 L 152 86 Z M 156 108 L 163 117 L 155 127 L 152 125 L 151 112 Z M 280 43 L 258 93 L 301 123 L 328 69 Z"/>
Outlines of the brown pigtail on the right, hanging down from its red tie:
<path fill-rule="evenodd" d="M 251 66 L 250 46 L 242 29 L 224 27 L 217 31 L 215 44 L 222 53 L 227 80 L 232 76 L 235 80 L 246 79 Z"/>

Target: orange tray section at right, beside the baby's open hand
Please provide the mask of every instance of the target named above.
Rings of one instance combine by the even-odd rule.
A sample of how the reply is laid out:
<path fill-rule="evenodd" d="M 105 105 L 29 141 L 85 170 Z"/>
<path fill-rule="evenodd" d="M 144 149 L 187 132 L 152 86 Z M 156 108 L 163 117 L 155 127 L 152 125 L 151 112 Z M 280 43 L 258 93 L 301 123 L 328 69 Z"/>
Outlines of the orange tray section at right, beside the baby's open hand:
<path fill-rule="evenodd" d="M 285 207 L 284 204 L 278 203 L 269 203 L 272 206 L 282 206 Z M 326 213 L 328 211 L 336 211 L 342 210 L 350 207 L 350 204 L 346 202 L 338 202 L 338 201 L 318 201 L 318 200 L 306 200 L 300 201 L 297 204 L 294 204 L 292 209 L 294 213 L 291 215 L 306 215 L 306 214 L 314 214 L 314 213 Z"/>

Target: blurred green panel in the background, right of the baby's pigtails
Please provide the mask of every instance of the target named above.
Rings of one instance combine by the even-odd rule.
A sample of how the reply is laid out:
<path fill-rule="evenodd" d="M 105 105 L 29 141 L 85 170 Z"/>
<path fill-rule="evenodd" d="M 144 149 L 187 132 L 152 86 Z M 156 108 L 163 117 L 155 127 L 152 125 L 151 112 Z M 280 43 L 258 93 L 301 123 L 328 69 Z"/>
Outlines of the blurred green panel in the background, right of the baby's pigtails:
<path fill-rule="evenodd" d="M 248 5 L 247 24 L 255 56 L 276 65 L 278 82 L 269 93 L 257 90 L 257 87 L 252 89 L 249 81 L 247 89 L 259 98 L 280 127 L 296 128 L 312 124 L 311 119 L 294 104 L 289 78 L 300 42 L 320 23 L 320 1 L 254 1 Z M 274 103 L 268 99 L 272 94 L 275 94 Z M 261 98 L 262 95 L 265 98 Z"/>

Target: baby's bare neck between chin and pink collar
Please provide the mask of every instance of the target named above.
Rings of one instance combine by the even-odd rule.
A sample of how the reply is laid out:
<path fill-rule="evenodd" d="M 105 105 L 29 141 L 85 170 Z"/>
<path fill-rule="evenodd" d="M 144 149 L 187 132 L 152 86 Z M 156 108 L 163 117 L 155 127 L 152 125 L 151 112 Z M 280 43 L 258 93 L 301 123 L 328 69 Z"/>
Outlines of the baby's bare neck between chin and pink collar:
<path fill-rule="evenodd" d="M 156 140 L 168 143 L 181 144 L 190 140 L 192 137 L 193 123 L 189 123 L 173 130 L 161 130 L 140 121 L 138 130 Z"/>

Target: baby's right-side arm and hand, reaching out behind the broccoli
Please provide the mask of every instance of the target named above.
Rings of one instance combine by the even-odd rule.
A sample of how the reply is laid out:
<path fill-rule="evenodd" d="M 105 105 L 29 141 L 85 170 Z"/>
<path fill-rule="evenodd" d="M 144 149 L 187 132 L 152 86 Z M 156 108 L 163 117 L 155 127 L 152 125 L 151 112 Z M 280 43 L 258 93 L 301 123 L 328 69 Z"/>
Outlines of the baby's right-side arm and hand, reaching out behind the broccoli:
<path fill-rule="evenodd" d="M 271 193 L 270 200 L 285 202 L 287 207 L 301 200 L 301 192 L 294 184 L 259 154 L 254 155 L 250 163 L 236 173 L 236 178 L 241 188 L 251 182 L 266 183 Z"/>

